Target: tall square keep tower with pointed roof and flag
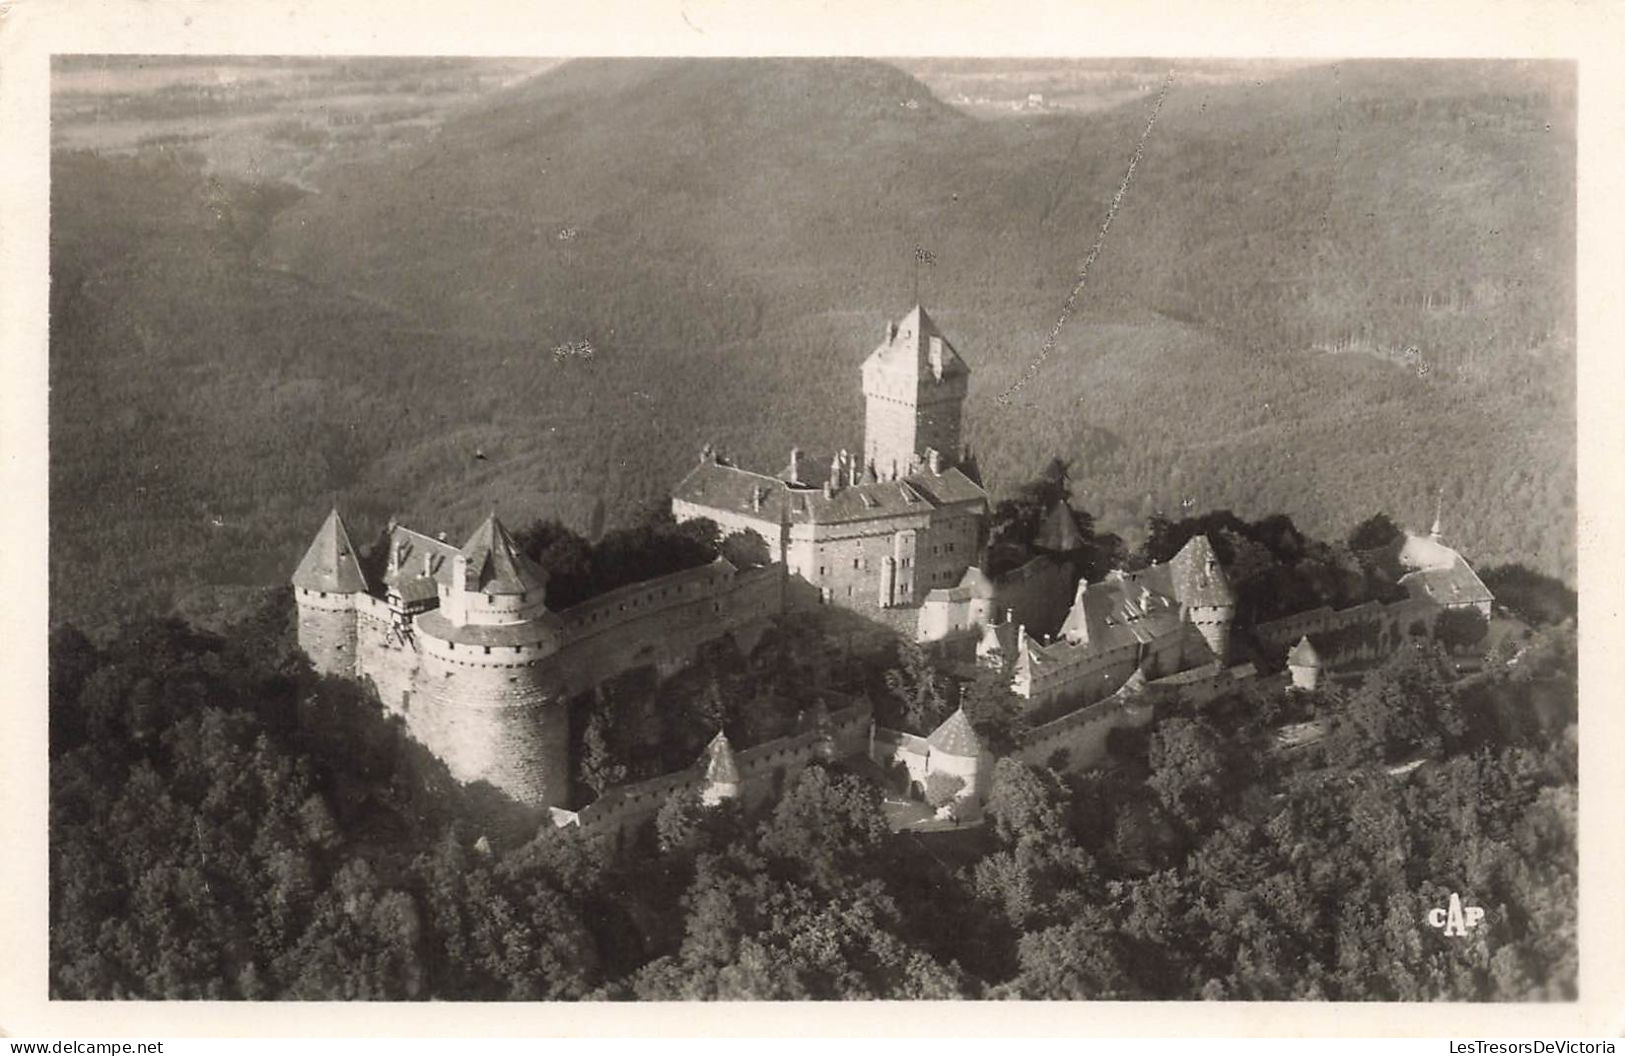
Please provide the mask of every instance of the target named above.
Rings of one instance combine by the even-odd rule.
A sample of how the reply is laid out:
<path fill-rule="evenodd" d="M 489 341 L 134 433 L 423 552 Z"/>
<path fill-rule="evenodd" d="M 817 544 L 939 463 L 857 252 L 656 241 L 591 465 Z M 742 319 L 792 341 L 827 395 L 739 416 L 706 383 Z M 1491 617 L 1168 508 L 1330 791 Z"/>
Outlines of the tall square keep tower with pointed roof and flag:
<path fill-rule="evenodd" d="M 863 362 L 863 460 L 879 479 L 908 476 L 936 452 L 947 465 L 960 457 L 959 424 L 970 367 L 915 305 L 886 323 L 879 348 Z"/>

